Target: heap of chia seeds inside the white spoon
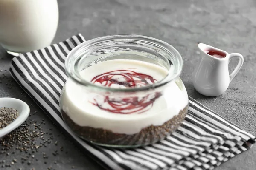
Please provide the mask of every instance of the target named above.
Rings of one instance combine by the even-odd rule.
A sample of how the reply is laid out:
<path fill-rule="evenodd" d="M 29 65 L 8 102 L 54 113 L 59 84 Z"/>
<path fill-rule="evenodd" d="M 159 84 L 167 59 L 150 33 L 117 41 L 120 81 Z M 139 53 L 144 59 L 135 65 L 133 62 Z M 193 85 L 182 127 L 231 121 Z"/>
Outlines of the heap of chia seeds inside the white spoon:
<path fill-rule="evenodd" d="M 0 129 L 12 123 L 19 113 L 14 108 L 0 108 Z"/>

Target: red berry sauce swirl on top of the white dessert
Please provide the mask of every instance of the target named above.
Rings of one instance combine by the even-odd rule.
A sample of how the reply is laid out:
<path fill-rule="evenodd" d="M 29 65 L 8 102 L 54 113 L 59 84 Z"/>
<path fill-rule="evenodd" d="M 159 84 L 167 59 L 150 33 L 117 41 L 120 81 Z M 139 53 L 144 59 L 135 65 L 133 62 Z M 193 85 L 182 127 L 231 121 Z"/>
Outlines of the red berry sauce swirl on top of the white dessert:
<path fill-rule="evenodd" d="M 155 83 L 157 80 L 147 74 L 137 73 L 130 70 L 116 70 L 100 74 L 93 77 L 92 83 L 100 83 L 106 87 L 113 87 L 114 85 L 123 86 L 125 88 L 141 87 Z M 145 96 L 132 97 L 109 97 L 105 96 L 104 101 L 101 102 L 94 99 L 93 105 L 98 108 L 111 113 L 131 114 L 143 113 L 152 108 L 154 101 L 159 98 L 159 92 L 147 94 Z"/>

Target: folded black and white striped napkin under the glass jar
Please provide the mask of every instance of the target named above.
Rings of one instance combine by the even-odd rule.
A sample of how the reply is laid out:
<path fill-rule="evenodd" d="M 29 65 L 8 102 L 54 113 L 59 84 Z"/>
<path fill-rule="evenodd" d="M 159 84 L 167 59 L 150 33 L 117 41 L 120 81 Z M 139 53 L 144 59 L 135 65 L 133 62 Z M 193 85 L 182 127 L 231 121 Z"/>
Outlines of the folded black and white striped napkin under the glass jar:
<path fill-rule="evenodd" d="M 189 98 L 182 125 L 165 140 L 136 149 L 113 149 L 84 142 L 64 124 L 59 97 L 67 79 L 67 54 L 84 42 L 81 34 L 12 59 L 10 73 L 45 113 L 96 161 L 113 170 L 212 170 L 255 143 L 255 137 Z"/>

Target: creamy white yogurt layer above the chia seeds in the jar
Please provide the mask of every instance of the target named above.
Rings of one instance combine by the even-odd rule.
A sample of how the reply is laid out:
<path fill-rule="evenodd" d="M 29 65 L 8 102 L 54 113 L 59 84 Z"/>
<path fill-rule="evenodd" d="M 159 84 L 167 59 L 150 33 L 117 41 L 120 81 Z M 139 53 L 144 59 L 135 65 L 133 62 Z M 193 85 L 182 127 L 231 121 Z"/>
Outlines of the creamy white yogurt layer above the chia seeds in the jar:
<path fill-rule="evenodd" d="M 150 75 L 156 81 L 160 81 L 168 74 L 166 69 L 158 65 L 124 59 L 98 63 L 84 69 L 80 74 L 87 81 L 91 81 L 93 77 L 97 75 L 122 69 Z M 118 79 L 118 77 L 115 78 Z M 121 81 L 123 77 L 119 78 L 119 81 Z M 177 81 L 181 82 L 180 79 L 177 79 Z M 98 83 L 98 85 L 101 84 Z M 162 96 L 157 98 L 153 105 L 143 110 L 142 113 L 120 114 L 105 111 L 93 105 L 93 102 L 95 102 L 94 99 L 96 99 L 103 108 L 111 109 L 111 106 L 104 102 L 103 96 L 92 93 L 89 94 L 81 85 L 77 85 L 71 79 L 68 79 L 61 94 L 60 106 L 61 109 L 80 126 L 103 128 L 105 130 L 111 130 L 114 133 L 135 134 L 150 125 L 163 125 L 163 123 L 172 119 L 173 116 L 177 115 L 180 110 L 186 107 L 188 104 L 188 96 L 182 82 L 180 86 L 181 87 L 178 87 L 175 81 L 170 82 L 168 87 L 165 88 L 164 91 L 161 91 Z M 114 85 L 114 87 L 125 88 L 122 85 Z M 180 90 L 180 88 L 182 90 Z M 141 93 L 137 96 L 140 98 L 145 95 L 147 94 Z M 154 92 L 151 92 L 150 95 L 154 97 Z"/>

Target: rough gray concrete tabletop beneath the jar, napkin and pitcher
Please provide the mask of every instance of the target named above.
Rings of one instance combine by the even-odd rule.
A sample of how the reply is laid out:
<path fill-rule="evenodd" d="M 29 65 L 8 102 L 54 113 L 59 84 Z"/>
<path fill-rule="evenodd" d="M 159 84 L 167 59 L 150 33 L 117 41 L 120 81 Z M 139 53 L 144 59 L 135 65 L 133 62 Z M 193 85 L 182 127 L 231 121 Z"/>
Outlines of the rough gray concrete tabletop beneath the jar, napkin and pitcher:
<path fill-rule="evenodd" d="M 256 1 L 255 0 L 58 0 L 60 10 L 59 27 L 54 42 L 82 33 L 86 40 L 109 34 L 141 34 L 164 40 L 173 45 L 184 59 L 181 78 L 189 96 L 197 99 L 224 118 L 235 123 L 249 133 L 256 135 Z M 198 42 L 221 48 L 228 52 L 239 52 L 244 56 L 241 71 L 230 83 L 228 90 L 218 97 L 205 97 L 192 86 L 192 71 L 198 62 Z M 0 48 L 0 76 L 6 74 L 0 84 L 0 97 L 15 97 L 31 105 L 31 119 L 41 121 L 42 129 L 52 129 L 53 140 L 64 152 L 52 155 L 57 146 L 54 143 L 40 148 L 31 165 L 18 161 L 12 170 L 35 168 L 69 170 L 100 170 L 95 161 L 81 153 L 79 148 L 66 139 L 64 134 L 15 83 L 7 88 L 11 80 L 9 69 L 11 56 Z M 237 61 L 230 62 L 230 70 Z M 57 136 L 59 134 L 59 136 Z M 49 136 L 49 135 L 48 135 Z M 46 137 L 47 138 L 47 135 Z M 1 146 L 0 146 L 1 147 Z M 9 151 L 12 153 L 15 151 Z M 44 164 L 42 152 L 47 153 Z M 66 153 L 68 152 L 68 153 Z M 1 159 L 20 159 L 23 153 L 15 152 Z M 57 161 L 57 164 L 53 162 Z M 0 168 L 1 169 L 1 168 Z M 227 161 L 215 170 L 255 170 L 256 146 Z"/>

